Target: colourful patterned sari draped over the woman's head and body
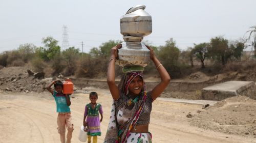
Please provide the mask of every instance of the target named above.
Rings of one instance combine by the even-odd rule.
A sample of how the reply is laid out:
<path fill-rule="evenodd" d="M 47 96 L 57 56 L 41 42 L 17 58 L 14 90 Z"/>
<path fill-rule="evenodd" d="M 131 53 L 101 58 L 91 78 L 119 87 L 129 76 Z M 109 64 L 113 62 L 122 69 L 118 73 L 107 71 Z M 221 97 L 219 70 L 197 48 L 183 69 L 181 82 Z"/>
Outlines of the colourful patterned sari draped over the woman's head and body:
<path fill-rule="evenodd" d="M 127 93 L 129 93 L 128 91 L 129 84 L 136 76 L 141 76 L 143 79 L 143 75 L 141 73 L 126 73 L 122 77 L 118 85 L 118 88 L 120 91 L 120 98 L 126 96 Z M 143 83 L 144 83 L 144 79 L 143 79 Z M 142 142 L 142 137 L 145 137 L 145 138 L 147 137 L 148 142 L 151 142 L 152 136 L 150 133 L 139 133 L 139 135 L 137 135 L 137 133 L 131 133 L 132 128 L 134 127 L 134 125 L 136 124 L 136 122 L 138 121 L 141 115 L 141 111 L 144 107 L 145 100 L 147 98 L 147 93 L 145 92 L 145 85 L 140 96 L 141 96 L 140 100 L 134 104 L 133 110 L 129 112 L 128 116 L 130 116 L 131 119 L 129 118 L 129 121 L 121 125 L 118 123 L 118 118 L 121 118 L 122 115 L 120 115 L 119 113 L 120 110 L 118 110 L 118 108 L 116 107 L 116 103 L 119 99 L 116 101 L 115 100 L 113 101 L 110 123 L 108 126 L 108 130 L 106 132 L 104 143 L 113 143 L 113 142 L 124 143 L 124 142 L 132 142 L 132 141 Z M 127 100 L 127 102 L 129 102 L 129 100 Z M 127 112 L 126 112 L 126 115 L 127 115 Z M 130 138 L 131 136 L 135 136 L 135 137 L 138 136 L 138 137 L 137 138 L 132 137 L 131 140 L 127 140 L 127 138 Z"/>

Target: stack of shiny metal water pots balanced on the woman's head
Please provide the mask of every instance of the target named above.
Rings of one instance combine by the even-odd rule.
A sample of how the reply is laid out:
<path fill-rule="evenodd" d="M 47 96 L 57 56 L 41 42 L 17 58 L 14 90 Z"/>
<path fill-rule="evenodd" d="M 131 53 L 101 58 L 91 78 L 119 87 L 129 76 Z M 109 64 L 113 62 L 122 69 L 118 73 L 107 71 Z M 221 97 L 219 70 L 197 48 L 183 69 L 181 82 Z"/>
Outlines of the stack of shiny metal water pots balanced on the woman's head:
<path fill-rule="evenodd" d="M 122 67 L 145 67 L 150 62 L 150 50 L 141 42 L 143 36 L 152 33 L 151 15 L 144 5 L 135 6 L 120 18 L 120 30 L 124 42 L 118 49 L 116 64 Z"/>

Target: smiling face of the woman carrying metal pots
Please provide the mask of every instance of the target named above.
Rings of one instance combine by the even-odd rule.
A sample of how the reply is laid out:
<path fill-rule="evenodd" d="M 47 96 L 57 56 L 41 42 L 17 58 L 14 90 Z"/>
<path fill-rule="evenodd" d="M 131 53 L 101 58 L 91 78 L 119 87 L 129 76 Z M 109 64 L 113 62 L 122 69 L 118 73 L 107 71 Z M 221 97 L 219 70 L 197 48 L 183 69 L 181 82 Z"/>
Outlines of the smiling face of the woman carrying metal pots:
<path fill-rule="evenodd" d="M 138 95 L 143 89 L 143 79 L 141 76 L 136 76 L 129 84 L 129 94 Z"/>

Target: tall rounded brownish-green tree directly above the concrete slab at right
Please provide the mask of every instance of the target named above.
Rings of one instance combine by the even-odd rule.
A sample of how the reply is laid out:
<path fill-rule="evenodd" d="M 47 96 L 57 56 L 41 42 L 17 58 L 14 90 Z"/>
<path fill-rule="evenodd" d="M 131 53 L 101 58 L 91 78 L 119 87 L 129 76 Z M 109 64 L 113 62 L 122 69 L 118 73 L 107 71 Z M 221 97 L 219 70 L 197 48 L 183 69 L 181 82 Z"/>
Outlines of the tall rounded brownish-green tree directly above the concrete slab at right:
<path fill-rule="evenodd" d="M 232 51 L 228 47 L 228 40 L 223 37 L 211 38 L 209 54 L 212 59 L 221 61 L 222 65 L 225 66 L 232 55 Z"/>

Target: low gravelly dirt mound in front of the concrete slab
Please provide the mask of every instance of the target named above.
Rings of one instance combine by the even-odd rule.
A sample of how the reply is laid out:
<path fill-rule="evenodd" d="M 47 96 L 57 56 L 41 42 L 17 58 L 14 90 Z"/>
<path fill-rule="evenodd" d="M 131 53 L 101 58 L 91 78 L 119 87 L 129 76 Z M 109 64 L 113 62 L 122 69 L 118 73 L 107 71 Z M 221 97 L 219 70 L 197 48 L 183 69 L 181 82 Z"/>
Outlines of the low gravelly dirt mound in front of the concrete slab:
<path fill-rule="evenodd" d="M 227 98 L 198 111 L 190 124 L 227 134 L 256 137 L 256 102 L 245 96 Z"/>

